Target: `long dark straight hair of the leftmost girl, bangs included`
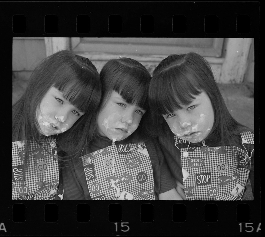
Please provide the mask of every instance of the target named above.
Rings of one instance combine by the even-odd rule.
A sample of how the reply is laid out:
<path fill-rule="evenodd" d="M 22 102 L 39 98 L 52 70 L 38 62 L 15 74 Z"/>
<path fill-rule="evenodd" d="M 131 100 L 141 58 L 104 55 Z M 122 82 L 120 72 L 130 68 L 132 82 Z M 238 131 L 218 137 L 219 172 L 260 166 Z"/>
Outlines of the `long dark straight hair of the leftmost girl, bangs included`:
<path fill-rule="evenodd" d="M 39 143 L 40 139 L 44 137 L 39 132 L 36 110 L 51 87 L 58 89 L 72 105 L 81 112 L 85 112 L 85 115 L 81 116 L 72 128 L 56 136 L 59 141 L 61 135 L 64 137 L 65 134 L 68 134 L 67 143 L 72 144 L 73 142 L 75 144 L 78 137 L 74 138 L 72 131 L 83 132 L 84 126 L 79 127 L 80 124 L 83 124 L 82 121 L 94 119 L 93 116 L 97 113 L 101 98 L 99 73 L 88 58 L 75 55 L 68 50 L 61 50 L 46 57 L 34 69 L 25 93 L 13 105 L 13 141 L 34 139 Z M 87 139 L 90 140 L 90 138 Z M 77 152 L 81 147 L 82 143 L 76 142 L 72 152 Z M 66 150 L 69 149 L 72 149 L 72 145 Z"/>

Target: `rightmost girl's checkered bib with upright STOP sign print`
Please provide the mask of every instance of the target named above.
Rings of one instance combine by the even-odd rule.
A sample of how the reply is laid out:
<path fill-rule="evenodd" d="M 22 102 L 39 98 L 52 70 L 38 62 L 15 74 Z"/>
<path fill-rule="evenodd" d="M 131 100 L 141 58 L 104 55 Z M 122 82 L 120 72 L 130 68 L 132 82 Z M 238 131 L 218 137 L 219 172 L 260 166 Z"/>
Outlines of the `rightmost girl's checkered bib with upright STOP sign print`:
<path fill-rule="evenodd" d="M 254 134 L 244 132 L 241 136 L 254 144 Z M 195 148 L 181 159 L 187 200 L 242 200 L 251 167 L 244 150 L 234 146 Z"/>

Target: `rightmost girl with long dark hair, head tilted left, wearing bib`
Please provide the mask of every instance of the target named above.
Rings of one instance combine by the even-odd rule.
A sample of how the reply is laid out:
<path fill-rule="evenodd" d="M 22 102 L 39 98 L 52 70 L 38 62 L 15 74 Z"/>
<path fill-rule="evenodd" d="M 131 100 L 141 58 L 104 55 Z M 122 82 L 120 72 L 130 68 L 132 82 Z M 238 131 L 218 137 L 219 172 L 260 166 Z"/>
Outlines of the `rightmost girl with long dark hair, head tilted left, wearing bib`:
<path fill-rule="evenodd" d="M 153 72 L 149 103 L 184 200 L 242 200 L 248 177 L 253 191 L 253 131 L 230 115 L 203 57 L 165 58 Z"/>

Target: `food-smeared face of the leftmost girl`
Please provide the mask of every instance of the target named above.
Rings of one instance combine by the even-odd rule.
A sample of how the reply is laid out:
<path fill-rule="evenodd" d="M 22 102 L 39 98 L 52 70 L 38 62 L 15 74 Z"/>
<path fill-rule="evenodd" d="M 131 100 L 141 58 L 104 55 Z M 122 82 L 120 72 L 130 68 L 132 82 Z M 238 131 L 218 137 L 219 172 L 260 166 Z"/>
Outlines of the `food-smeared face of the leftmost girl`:
<path fill-rule="evenodd" d="M 83 115 L 75 106 L 64 99 L 62 93 L 51 87 L 36 111 L 40 133 L 45 136 L 59 134 L 70 129 Z"/>

